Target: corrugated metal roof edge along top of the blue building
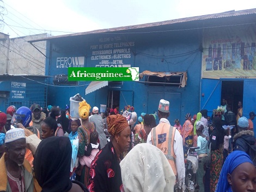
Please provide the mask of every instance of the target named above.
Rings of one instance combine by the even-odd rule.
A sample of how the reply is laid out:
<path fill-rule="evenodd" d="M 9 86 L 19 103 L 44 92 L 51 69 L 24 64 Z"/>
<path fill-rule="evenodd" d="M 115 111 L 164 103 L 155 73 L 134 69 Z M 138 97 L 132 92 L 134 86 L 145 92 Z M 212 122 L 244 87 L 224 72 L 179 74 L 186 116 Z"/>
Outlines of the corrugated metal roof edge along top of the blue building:
<path fill-rule="evenodd" d="M 99 30 L 93 30 L 93 31 L 86 31 L 83 33 L 52 36 L 52 37 L 47 37 L 45 39 L 33 40 L 33 41 L 29 41 L 29 42 L 44 41 L 44 40 L 58 39 L 58 38 L 62 38 L 62 37 L 79 36 L 79 35 L 99 34 L 99 33 L 109 33 L 109 32 L 115 32 L 115 31 L 131 30 L 131 29 L 149 28 L 149 27 L 156 27 L 156 26 L 160 26 L 160 25 L 170 25 L 170 24 L 175 24 L 175 23 L 185 23 L 185 22 L 192 22 L 192 21 L 199 21 L 199 20 L 209 20 L 211 18 L 234 17 L 234 16 L 251 15 L 251 14 L 256 14 L 256 9 L 246 9 L 246 10 L 240 10 L 240 11 L 231 10 L 231 11 L 227 11 L 227 12 L 221 12 L 218 14 L 178 18 L 175 20 L 160 21 L 160 22 L 154 22 L 154 23 L 145 23 L 145 24 L 138 24 L 138 25 L 130 25 L 130 26 L 125 26 L 125 27 L 111 28 L 111 29 L 99 29 Z"/>

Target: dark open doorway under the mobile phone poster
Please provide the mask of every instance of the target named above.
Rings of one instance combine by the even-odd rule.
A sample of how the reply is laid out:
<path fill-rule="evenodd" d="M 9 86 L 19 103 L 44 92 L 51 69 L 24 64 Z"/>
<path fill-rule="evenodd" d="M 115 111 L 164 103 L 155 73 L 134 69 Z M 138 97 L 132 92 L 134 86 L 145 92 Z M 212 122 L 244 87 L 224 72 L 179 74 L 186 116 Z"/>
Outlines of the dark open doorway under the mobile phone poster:
<path fill-rule="evenodd" d="M 243 81 L 222 81 L 221 99 L 223 98 L 227 100 L 227 104 L 236 114 L 238 101 L 243 102 Z"/>

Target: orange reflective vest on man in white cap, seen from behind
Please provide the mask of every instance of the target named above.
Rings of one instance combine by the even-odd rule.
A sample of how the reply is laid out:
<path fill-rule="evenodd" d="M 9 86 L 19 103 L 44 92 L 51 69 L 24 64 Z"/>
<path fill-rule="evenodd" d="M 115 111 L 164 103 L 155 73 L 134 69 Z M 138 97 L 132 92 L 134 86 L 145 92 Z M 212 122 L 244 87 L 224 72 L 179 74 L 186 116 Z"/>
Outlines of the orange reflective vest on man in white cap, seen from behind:
<path fill-rule="evenodd" d="M 174 175 L 176 176 L 176 156 L 174 153 L 175 130 L 175 127 L 167 123 L 161 123 L 151 130 L 151 141 L 153 145 L 155 145 L 164 153 L 164 155 L 168 159 L 170 166 L 173 169 Z"/>

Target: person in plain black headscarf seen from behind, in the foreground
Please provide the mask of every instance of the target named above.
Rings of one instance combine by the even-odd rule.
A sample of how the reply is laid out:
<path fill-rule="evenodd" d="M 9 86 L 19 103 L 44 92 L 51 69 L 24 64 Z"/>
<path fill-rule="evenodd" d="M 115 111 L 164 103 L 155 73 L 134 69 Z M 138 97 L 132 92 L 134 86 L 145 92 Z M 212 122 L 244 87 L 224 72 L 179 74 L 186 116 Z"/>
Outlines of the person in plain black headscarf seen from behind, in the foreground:
<path fill-rule="evenodd" d="M 42 191 L 88 191 L 82 183 L 72 183 L 69 178 L 71 153 L 69 138 L 49 137 L 40 142 L 35 152 L 34 171 Z"/>

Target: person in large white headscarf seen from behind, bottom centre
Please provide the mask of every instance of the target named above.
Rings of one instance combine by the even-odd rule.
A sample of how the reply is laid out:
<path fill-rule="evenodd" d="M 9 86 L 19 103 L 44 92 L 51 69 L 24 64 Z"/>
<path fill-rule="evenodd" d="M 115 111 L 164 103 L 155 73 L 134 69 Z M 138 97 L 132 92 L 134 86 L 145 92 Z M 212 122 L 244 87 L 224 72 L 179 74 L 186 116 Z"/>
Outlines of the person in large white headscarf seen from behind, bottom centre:
<path fill-rule="evenodd" d="M 176 177 L 163 152 L 147 143 L 136 145 L 121 161 L 125 192 L 173 191 Z"/>

